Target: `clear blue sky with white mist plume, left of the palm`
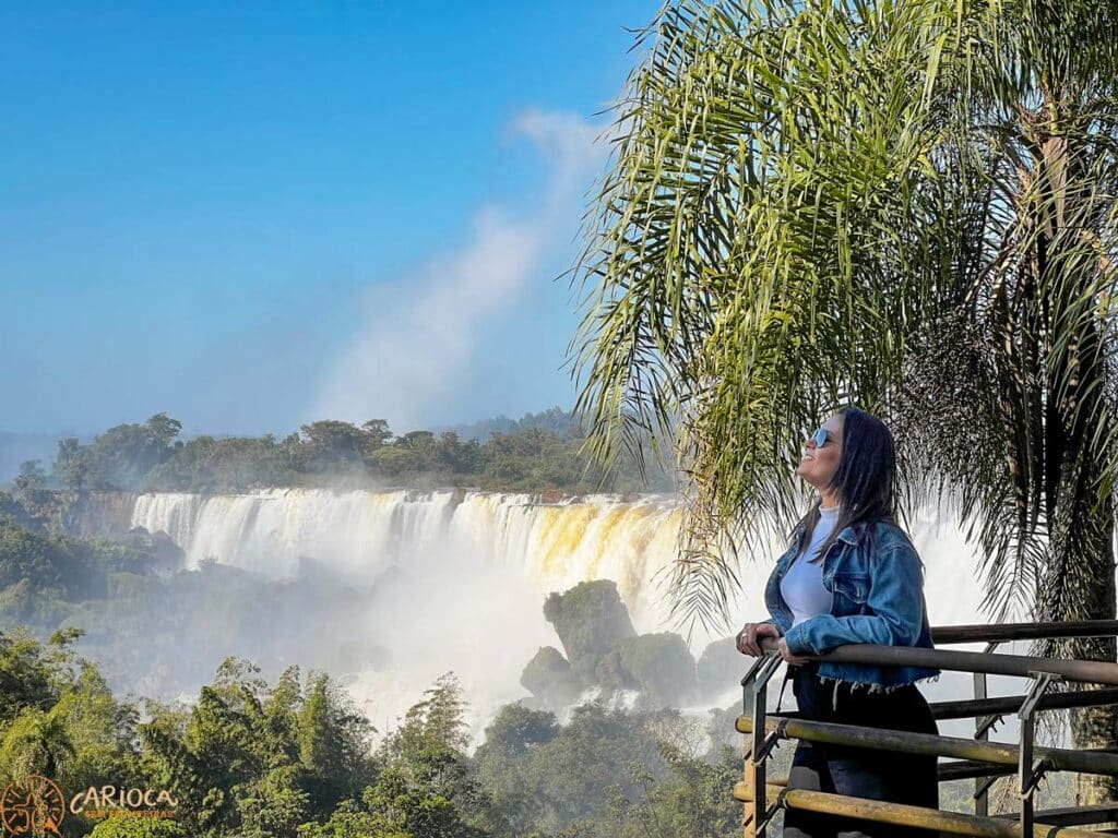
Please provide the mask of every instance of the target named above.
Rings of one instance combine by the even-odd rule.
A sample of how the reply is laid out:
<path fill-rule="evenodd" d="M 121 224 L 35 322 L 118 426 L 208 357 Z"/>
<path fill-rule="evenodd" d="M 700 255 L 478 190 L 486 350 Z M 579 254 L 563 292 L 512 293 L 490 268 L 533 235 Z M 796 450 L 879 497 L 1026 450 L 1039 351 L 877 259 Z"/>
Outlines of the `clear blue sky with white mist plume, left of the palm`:
<path fill-rule="evenodd" d="M 0 429 L 569 406 L 654 0 L 0 6 Z"/>

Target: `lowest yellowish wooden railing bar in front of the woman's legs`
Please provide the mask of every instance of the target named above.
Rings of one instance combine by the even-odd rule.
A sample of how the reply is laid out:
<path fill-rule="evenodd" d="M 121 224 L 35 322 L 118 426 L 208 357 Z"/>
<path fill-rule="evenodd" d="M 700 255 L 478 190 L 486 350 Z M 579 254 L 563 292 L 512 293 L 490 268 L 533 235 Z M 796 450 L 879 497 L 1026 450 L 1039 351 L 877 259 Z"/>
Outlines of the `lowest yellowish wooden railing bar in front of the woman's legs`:
<path fill-rule="evenodd" d="M 843 794 L 828 794 L 823 791 L 807 789 L 784 789 L 768 787 L 766 803 L 784 809 L 798 809 L 821 815 L 837 815 L 847 818 L 861 818 L 877 823 L 892 823 L 899 827 L 917 827 L 929 831 L 948 832 L 950 835 L 968 835 L 975 838 L 1022 838 L 1021 825 L 998 818 L 982 818 L 960 812 L 945 812 L 939 809 L 928 809 L 922 806 L 904 803 L 888 803 L 883 800 L 866 800 L 849 798 Z M 749 783 L 739 782 L 733 787 L 735 800 L 750 802 L 754 789 Z M 1053 823 L 1033 823 L 1031 838 L 1102 838 L 1105 832 L 1091 832 L 1086 829 L 1059 828 Z"/>

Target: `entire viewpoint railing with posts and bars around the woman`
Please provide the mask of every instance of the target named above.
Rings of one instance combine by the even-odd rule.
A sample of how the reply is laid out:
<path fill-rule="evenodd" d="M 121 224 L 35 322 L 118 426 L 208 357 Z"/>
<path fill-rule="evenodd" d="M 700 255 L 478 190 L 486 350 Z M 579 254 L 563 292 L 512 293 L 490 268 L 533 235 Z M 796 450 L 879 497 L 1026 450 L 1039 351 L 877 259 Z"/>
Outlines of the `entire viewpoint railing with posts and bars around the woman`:
<path fill-rule="evenodd" d="M 767 654 L 757 658 L 741 679 L 742 715 L 737 720 L 737 730 L 748 737 L 745 778 L 733 789 L 733 797 L 746 804 L 746 838 L 762 838 L 773 817 L 781 809 L 830 812 L 881 823 L 983 838 L 1102 838 L 1107 834 L 1076 827 L 1118 820 L 1118 802 L 1036 812 L 1033 806 L 1034 793 L 1045 774 L 1053 771 L 1118 777 L 1118 753 L 1039 747 L 1034 744 L 1034 739 L 1036 714 L 1040 711 L 1118 704 L 1118 664 L 1002 655 L 995 650 L 1001 644 L 1013 640 L 1114 635 L 1118 635 L 1118 620 L 946 626 L 932 629 L 937 644 L 986 642 L 985 651 L 853 645 L 811 658 L 833 663 L 923 666 L 973 673 L 972 699 L 936 702 L 930 705 L 937 720 L 974 718 L 975 732 L 970 739 L 813 722 L 799 718 L 796 713 L 769 714 L 766 704 L 768 683 L 783 660 L 776 655 L 776 641 L 766 639 Z M 991 698 L 987 695 L 989 675 L 1027 678 L 1030 686 L 1024 695 Z M 1069 693 L 1050 692 L 1052 685 L 1060 680 L 1108 686 Z M 1018 743 L 1013 745 L 991 742 L 991 729 L 1010 713 L 1015 713 L 1020 720 Z M 768 780 L 767 761 L 773 749 L 780 741 L 789 739 L 954 758 L 953 762 L 940 763 L 939 781 L 974 779 L 975 813 L 788 789 L 783 781 Z M 991 817 L 991 785 L 998 777 L 1013 773 L 1017 774 L 1016 790 L 1021 801 L 1018 811 L 1011 816 Z"/>

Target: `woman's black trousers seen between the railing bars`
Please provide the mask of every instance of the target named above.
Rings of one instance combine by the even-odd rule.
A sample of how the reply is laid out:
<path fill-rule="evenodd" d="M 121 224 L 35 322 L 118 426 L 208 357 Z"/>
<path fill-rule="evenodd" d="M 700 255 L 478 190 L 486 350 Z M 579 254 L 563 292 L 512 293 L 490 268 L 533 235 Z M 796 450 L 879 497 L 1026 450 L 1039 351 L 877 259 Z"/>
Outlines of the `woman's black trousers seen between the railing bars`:
<path fill-rule="evenodd" d="M 793 689 L 804 718 L 915 733 L 938 733 L 928 703 L 913 685 L 888 693 L 868 693 L 821 683 L 814 665 L 795 667 Z M 789 789 L 888 800 L 938 808 L 935 756 L 800 742 L 788 775 Z M 785 838 L 923 838 L 925 830 L 853 818 L 788 810 Z"/>

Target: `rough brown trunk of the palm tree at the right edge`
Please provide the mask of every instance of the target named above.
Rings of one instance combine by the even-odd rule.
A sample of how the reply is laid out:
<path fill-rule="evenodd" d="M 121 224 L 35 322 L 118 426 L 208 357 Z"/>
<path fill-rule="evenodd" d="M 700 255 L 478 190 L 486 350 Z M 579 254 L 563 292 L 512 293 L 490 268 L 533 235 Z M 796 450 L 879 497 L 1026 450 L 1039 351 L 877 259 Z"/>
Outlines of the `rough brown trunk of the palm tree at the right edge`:
<path fill-rule="evenodd" d="M 1038 188 L 1034 241 L 1038 276 L 1048 292 L 1041 305 L 1041 334 L 1048 335 L 1049 377 L 1044 404 L 1044 498 L 1049 521 L 1048 578 L 1039 580 L 1041 619 L 1112 620 L 1116 608 L 1114 555 L 1114 491 L 1109 458 L 1114 456 L 1115 416 L 1105 392 L 1107 344 L 1105 330 L 1079 306 L 1095 296 L 1097 256 L 1082 245 L 1082 229 L 1097 215 L 1090 178 L 1081 150 L 1051 125 L 1062 105 L 1044 92 L 1044 118 L 1030 126 Z M 1027 192 L 1027 190 L 1026 190 Z M 1070 327 L 1065 324 L 1072 324 Z M 1065 340 L 1053 340 L 1063 333 Z M 1053 644 L 1063 657 L 1116 659 L 1114 637 L 1076 638 Z M 1062 648 L 1060 648 L 1062 647 Z M 1057 650 L 1054 649 L 1054 650 Z M 1088 688 L 1098 685 L 1077 685 Z M 1114 706 L 1073 710 L 1072 745 L 1077 749 L 1118 749 L 1118 711 Z M 1080 774 L 1076 780 L 1080 804 L 1118 799 L 1118 778 Z"/>

